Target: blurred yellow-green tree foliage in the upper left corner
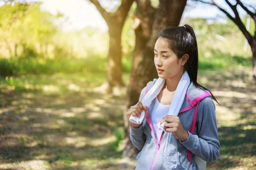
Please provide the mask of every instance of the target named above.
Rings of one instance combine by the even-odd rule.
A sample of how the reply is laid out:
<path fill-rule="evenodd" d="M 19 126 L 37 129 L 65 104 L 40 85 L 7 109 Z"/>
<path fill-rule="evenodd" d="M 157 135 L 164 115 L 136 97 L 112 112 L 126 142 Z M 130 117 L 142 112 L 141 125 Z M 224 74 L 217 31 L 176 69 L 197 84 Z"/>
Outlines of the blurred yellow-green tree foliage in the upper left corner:
<path fill-rule="evenodd" d="M 38 51 L 48 57 L 48 44 L 58 31 L 53 23 L 55 18 L 49 12 L 41 11 L 41 3 L 20 3 L 6 1 L 0 6 L 0 42 L 5 42 L 9 56 L 17 57 L 17 49 L 22 49 L 23 57 L 38 57 Z M 29 36 L 28 36 L 29 34 Z M 37 46 L 40 50 L 37 50 Z"/>

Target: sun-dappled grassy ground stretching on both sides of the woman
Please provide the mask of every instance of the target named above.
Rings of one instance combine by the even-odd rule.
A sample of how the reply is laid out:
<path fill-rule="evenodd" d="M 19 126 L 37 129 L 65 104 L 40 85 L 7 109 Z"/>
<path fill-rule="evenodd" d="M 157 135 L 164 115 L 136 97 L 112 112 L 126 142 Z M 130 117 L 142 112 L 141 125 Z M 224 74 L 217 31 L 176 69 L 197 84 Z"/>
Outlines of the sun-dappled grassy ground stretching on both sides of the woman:
<path fill-rule="evenodd" d="M 1 170 L 118 170 L 127 161 L 122 159 L 125 96 L 95 90 L 104 74 L 11 79 L 0 81 Z M 221 104 L 215 103 L 220 156 L 207 169 L 253 170 L 256 83 L 251 69 L 204 70 L 198 82 Z M 135 164 L 131 161 L 130 169 Z"/>

